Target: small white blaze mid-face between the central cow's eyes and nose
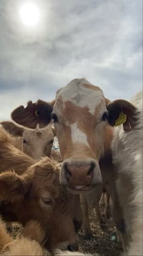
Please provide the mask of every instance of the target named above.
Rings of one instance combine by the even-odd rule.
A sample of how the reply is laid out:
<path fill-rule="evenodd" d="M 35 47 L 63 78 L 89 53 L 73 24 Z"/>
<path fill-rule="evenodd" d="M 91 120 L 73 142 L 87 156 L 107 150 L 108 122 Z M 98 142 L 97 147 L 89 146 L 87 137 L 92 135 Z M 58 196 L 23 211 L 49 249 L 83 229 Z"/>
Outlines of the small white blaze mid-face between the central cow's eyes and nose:
<path fill-rule="evenodd" d="M 82 132 L 77 126 L 77 123 L 71 124 L 71 140 L 72 143 L 82 143 L 89 147 L 88 141 L 87 141 L 87 135 Z"/>

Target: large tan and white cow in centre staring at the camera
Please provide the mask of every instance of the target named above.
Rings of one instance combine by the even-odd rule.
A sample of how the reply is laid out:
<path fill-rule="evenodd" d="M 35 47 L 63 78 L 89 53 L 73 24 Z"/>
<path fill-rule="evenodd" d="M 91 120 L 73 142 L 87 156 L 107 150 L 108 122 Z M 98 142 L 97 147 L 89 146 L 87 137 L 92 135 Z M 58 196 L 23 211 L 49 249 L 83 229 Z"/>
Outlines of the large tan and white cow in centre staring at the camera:
<path fill-rule="evenodd" d="M 101 88 L 85 79 L 74 79 L 58 91 L 55 102 L 52 102 L 52 118 L 63 159 L 60 172 L 61 184 L 66 185 L 73 193 L 87 194 L 96 185 L 107 183 L 113 202 L 113 220 L 126 243 L 128 237 L 116 191 L 117 173 L 112 164 L 113 127 L 111 126 L 115 125 L 120 112 L 123 111 L 128 115 L 128 107 L 126 107 L 128 102 L 122 101 L 122 104 L 120 101 L 115 102 L 114 110 L 109 107 L 109 102 Z M 17 108 L 12 113 L 12 118 L 20 124 L 23 120 L 25 126 L 30 127 L 39 119 L 42 119 L 42 125 L 47 124 L 51 111 L 46 112 L 44 105 L 42 112 L 40 105 L 41 113 L 44 113 L 43 119 L 41 113 L 37 116 L 30 112 L 31 107 L 32 102 L 27 108 Z M 33 104 L 33 108 L 36 111 L 38 102 Z M 134 109 L 132 107 L 130 113 Z M 107 119 L 111 126 L 107 123 Z M 127 119 L 124 129 L 128 127 Z"/>

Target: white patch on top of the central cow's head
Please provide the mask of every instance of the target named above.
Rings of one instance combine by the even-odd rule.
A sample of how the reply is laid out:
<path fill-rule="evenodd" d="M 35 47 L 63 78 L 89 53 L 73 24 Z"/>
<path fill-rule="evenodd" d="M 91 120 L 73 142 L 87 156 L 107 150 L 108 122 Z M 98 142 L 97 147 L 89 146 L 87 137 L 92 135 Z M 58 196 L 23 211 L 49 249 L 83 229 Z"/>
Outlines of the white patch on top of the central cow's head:
<path fill-rule="evenodd" d="M 58 97 L 62 98 L 62 102 L 71 101 L 78 107 L 88 107 L 91 115 L 94 115 L 95 108 L 104 99 L 104 95 L 100 88 L 94 90 L 93 85 L 91 88 L 86 88 L 85 84 L 91 85 L 84 78 L 74 79 L 59 91 Z"/>

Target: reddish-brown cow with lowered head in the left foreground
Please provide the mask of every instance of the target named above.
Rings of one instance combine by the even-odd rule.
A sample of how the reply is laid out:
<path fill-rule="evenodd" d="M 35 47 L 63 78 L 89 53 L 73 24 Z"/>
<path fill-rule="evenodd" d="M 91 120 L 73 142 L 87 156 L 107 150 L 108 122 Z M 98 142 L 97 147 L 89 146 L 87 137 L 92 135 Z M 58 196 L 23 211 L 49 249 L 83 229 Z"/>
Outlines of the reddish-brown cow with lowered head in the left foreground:
<path fill-rule="evenodd" d="M 56 162 L 45 157 L 21 176 L 14 171 L 2 172 L 0 189 L 4 202 L 0 212 L 5 221 L 18 221 L 26 227 L 28 221 L 37 220 L 48 249 L 78 249 L 74 224 L 78 231 L 82 221 L 79 197 L 59 185 Z"/>

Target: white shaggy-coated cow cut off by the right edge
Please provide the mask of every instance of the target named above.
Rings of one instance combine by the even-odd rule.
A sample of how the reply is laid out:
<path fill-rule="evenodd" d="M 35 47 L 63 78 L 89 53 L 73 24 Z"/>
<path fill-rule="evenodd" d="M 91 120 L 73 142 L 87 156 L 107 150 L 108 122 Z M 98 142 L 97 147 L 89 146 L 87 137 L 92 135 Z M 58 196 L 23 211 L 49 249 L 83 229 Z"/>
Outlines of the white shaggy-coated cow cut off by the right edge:
<path fill-rule="evenodd" d="M 127 124 L 115 127 L 111 143 L 113 164 L 118 172 L 116 187 L 131 239 L 127 254 L 142 255 L 142 91 L 130 102 L 111 102 L 108 111 L 113 113 L 113 118 L 118 108 L 126 111 Z"/>

